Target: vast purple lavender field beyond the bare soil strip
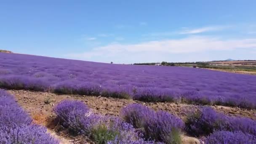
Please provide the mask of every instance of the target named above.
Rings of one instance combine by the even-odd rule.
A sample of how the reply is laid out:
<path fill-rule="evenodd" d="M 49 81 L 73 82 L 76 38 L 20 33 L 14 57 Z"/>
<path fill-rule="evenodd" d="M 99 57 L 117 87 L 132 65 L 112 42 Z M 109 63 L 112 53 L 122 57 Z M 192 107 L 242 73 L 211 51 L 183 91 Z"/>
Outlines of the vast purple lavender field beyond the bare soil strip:
<path fill-rule="evenodd" d="M 0 53 L 0 88 L 256 108 L 256 76 Z"/>

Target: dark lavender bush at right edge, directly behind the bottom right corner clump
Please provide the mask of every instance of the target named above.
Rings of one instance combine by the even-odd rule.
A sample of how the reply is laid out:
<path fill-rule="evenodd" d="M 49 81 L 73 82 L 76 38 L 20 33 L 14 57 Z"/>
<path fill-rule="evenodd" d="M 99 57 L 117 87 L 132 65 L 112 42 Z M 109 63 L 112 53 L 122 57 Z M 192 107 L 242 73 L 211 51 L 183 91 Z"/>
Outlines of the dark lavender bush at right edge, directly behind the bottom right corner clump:
<path fill-rule="evenodd" d="M 256 136 L 256 121 L 243 117 L 229 117 L 204 107 L 187 117 L 186 131 L 192 136 L 209 135 L 214 131 L 241 131 Z"/>

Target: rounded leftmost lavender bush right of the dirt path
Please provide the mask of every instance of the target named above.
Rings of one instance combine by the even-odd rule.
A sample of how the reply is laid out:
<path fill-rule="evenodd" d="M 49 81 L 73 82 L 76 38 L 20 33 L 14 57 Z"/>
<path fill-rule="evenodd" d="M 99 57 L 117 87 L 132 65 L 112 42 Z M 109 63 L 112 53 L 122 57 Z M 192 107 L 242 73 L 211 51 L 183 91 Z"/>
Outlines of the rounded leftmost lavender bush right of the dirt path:
<path fill-rule="evenodd" d="M 84 131 L 87 124 L 85 121 L 88 118 L 86 115 L 89 114 L 90 109 L 82 101 L 63 100 L 53 108 L 53 111 L 60 124 L 75 134 Z"/>

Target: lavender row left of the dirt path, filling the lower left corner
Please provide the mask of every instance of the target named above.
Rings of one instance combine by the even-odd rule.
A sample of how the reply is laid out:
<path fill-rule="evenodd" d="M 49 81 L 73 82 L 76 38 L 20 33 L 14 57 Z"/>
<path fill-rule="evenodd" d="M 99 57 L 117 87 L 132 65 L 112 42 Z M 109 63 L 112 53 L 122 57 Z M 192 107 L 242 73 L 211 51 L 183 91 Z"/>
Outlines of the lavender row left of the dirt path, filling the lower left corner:
<path fill-rule="evenodd" d="M 59 144 L 46 131 L 33 124 L 13 96 L 0 89 L 0 144 Z"/>

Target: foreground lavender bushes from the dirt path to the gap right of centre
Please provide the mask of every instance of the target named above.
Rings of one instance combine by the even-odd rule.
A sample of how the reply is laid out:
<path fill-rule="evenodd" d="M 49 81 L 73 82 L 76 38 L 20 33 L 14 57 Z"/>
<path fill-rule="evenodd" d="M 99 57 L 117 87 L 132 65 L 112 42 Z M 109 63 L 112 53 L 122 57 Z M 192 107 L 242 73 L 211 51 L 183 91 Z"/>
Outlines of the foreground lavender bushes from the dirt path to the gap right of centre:
<path fill-rule="evenodd" d="M 138 111 L 134 113 L 135 109 Z M 180 118 L 141 105 L 124 108 L 123 119 L 94 114 L 82 101 L 61 101 L 54 112 L 63 127 L 90 137 L 96 144 L 180 144 L 184 128 Z M 148 119 L 144 120 L 146 115 Z"/>

